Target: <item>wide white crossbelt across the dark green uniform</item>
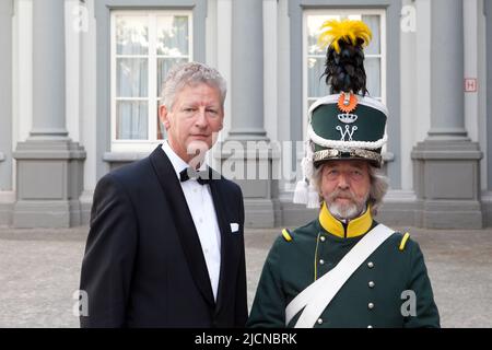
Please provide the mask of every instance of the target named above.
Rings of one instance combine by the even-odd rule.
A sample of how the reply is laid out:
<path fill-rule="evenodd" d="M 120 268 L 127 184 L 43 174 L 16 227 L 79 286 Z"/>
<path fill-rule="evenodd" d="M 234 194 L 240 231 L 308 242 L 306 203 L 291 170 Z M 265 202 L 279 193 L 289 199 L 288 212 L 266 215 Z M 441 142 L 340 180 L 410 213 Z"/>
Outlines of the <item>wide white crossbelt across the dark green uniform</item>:
<path fill-rule="evenodd" d="M 378 224 L 367 232 L 332 270 L 311 283 L 289 303 L 285 308 L 285 325 L 289 325 L 291 319 L 304 308 L 295 328 L 312 328 L 352 273 L 394 232 L 383 224 Z"/>

